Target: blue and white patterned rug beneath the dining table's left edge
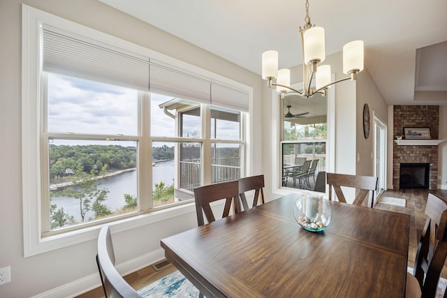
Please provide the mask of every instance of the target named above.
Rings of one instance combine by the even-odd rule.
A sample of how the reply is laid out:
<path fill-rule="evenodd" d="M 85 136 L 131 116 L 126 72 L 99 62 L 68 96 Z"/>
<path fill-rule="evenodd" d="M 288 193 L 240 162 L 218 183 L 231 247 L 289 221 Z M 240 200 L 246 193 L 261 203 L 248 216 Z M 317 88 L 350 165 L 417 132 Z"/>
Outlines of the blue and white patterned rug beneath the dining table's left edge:
<path fill-rule="evenodd" d="M 199 291 L 179 271 L 165 276 L 150 285 L 138 290 L 143 297 L 168 298 L 168 297 L 198 297 Z"/>

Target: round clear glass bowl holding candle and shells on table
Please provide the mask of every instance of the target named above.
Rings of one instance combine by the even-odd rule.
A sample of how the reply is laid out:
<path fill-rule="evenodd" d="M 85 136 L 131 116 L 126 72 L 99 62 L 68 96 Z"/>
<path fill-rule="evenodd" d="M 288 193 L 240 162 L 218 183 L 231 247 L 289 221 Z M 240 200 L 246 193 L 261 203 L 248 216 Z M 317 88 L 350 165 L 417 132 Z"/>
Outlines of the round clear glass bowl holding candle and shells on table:
<path fill-rule="evenodd" d="M 332 220 L 332 209 L 322 196 L 305 193 L 293 204 L 293 216 L 303 229 L 321 232 Z"/>

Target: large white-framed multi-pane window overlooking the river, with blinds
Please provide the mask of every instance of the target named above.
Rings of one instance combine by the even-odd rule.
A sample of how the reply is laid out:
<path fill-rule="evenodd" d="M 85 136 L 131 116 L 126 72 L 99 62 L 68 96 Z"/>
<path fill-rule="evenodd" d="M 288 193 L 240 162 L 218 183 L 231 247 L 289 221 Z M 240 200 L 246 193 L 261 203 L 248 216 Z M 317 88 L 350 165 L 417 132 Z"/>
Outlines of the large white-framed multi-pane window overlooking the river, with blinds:
<path fill-rule="evenodd" d="M 24 7 L 26 256 L 244 173 L 251 88 Z"/>

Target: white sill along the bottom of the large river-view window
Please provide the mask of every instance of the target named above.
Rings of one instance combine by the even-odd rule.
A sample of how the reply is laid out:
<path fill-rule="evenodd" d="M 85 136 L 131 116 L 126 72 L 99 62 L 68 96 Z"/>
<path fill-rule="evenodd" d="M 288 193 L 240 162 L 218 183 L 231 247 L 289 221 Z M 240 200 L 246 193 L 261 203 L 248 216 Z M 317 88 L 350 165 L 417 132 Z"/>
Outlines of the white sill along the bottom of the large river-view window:
<path fill-rule="evenodd" d="M 169 218 L 175 218 L 177 216 L 195 212 L 195 204 L 191 202 L 189 204 L 154 211 L 147 214 L 141 214 L 107 224 L 113 226 L 114 232 L 123 232 L 126 230 L 131 230 L 133 228 L 141 227 L 143 225 L 149 225 L 151 223 L 165 221 Z M 25 257 L 38 255 L 40 253 L 46 253 L 48 251 L 54 251 L 59 248 L 64 248 L 73 244 L 80 244 L 85 241 L 96 239 L 98 237 L 98 232 L 103 225 L 95 225 L 94 227 L 89 227 L 82 230 L 75 230 L 66 232 L 64 234 L 41 237 L 40 239 L 38 239 L 38 243 L 36 244 L 27 244 L 27 241 L 25 241 Z"/>

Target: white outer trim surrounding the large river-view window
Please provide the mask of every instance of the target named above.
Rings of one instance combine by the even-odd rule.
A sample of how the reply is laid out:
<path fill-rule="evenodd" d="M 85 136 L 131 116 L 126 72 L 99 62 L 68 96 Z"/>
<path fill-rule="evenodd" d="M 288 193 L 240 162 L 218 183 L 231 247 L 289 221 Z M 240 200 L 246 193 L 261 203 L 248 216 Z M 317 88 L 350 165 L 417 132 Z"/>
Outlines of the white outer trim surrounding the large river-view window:
<path fill-rule="evenodd" d="M 38 71 L 41 68 L 39 58 L 41 45 L 38 36 L 42 23 L 49 24 L 66 31 L 77 32 L 84 36 L 90 36 L 91 38 L 94 38 L 102 43 L 108 43 L 131 52 L 146 55 L 184 70 L 198 73 L 199 75 L 210 77 L 213 80 L 218 80 L 219 82 L 229 84 L 237 89 L 247 91 L 249 94 L 250 111 L 251 107 L 253 106 L 252 87 L 248 87 L 247 85 L 235 82 L 226 77 L 222 77 L 221 75 L 211 73 L 210 71 L 203 70 L 197 66 L 186 64 L 183 61 L 173 59 L 164 54 L 148 50 L 145 47 L 129 43 L 126 40 L 121 40 L 115 36 L 110 36 L 22 4 L 22 208 L 24 225 L 24 257 L 45 253 L 47 251 L 71 246 L 73 244 L 79 244 L 83 241 L 96 239 L 98 236 L 98 230 L 101 228 L 101 225 L 96 225 L 94 227 L 75 230 L 65 234 L 57 234 L 45 238 L 41 237 L 42 176 L 40 165 L 42 156 L 39 156 L 38 152 L 40 152 L 41 140 L 39 140 L 39 129 L 41 128 L 40 122 L 42 119 L 40 119 L 40 113 L 38 113 L 38 110 L 41 109 L 41 103 L 39 103 L 36 98 L 40 98 L 39 93 L 41 89 L 41 81 Z M 250 137 L 247 128 L 244 133 L 246 134 L 245 137 Z M 245 153 L 247 153 L 247 150 L 249 152 L 253 150 L 252 148 L 247 149 L 247 145 L 244 147 L 246 150 Z M 249 156 L 251 156 L 251 154 L 249 154 Z M 251 165 L 248 161 L 244 164 L 246 172 L 251 172 L 251 170 L 249 170 L 250 166 Z M 120 232 L 137 228 L 141 225 L 163 221 L 167 218 L 173 218 L 190 212 L 195 213 L 193 203 L 183 204 L 170 209 L 162 209 L 149 214 L 134 216 L 132 218 L 125 218 L 110 224 L 115 225 L 116 232 Z"/>

